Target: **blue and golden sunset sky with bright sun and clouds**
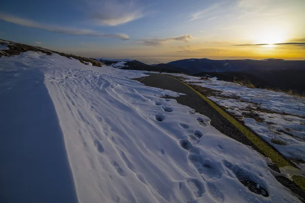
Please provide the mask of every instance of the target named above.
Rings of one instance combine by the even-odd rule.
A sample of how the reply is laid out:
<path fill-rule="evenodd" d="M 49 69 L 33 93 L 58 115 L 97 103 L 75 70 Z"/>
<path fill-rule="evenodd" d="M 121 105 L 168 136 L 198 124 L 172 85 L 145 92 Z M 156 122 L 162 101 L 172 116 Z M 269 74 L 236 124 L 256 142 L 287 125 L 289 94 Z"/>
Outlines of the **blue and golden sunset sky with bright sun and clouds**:
<path fill-rule="evenodd" d="M 305 60 L 305 0 L 4 0 L 0 39 L 86 57 Z"/>

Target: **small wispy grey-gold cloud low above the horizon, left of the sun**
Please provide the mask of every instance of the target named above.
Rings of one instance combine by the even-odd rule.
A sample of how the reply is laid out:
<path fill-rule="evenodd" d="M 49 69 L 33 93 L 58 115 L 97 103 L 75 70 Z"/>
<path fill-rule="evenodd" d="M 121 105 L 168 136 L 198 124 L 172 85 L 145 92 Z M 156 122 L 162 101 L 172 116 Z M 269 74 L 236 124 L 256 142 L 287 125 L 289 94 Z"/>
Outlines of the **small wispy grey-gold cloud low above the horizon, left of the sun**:
<path fill-rule="evenodd" d="M 152 38 L 152 39 L 144 39 L 137 42 L 137 44 L 146 45 L 146 46 L 154 46 L 158 47 L 166 42 L 169 41 L 182 41 L 182 42 L 188 42 L 189 40 L 193 39 L 193 36 L 191 34 L 188 35 L 181 35 L 175 38 Z"/>

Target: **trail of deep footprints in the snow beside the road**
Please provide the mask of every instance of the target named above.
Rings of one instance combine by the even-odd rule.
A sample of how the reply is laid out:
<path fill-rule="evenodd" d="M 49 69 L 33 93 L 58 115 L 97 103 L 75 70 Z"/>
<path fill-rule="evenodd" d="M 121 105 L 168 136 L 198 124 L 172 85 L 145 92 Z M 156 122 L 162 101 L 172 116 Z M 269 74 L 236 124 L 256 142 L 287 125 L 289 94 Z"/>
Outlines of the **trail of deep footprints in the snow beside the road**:
<path fill-rule="evenodd" d="M 166 99 L 166 101 L 170 101 L 170 99 Z M 162 106 L 161 101 L 156 101 L 155 105 Z M 173 112 L 173 109 L 168 106 L 162 106 L 163 111 L 165 112 Z M 191 110 L 188 112 L 190 115 L 195 114 L 195 110 Z M 164 121 L 165 116 L 162 113 L 158 113 L 155 115 L 155 119 L 159 122 Z M 198 117 L 197 122 L 200 126 L 206 127 L 207 123 L 203 120 L 203 118 Z M 185 123 L 179 123 L 179 126 L 183 129 L 190 129 L 190 126 Z M 254 192 L 256 194 L 260 194 L 262 196 L 268 197 L 269 194 L 267 190 L 262 188 L 257 183 L 250 180 L 249 175 L 246 171 L 243 171 L 242 168 L 240 168 L 238 165 L 233 164 L 227 160 L 222 160 L 222 164 L 215 164 L 213 161 L 211 161 L 208 158 L 204 158 L 200 154 L 200 151 L 198 147 L 196 147 L 196 144 L 200 142 L 200 138 L 203 136 L 203 133 L 200 130 L 192 130 L 193 133 L 179 139 L 179 144 L 182 148 L 185 150 L 188 150 L 189 152 L 189 163 L 190 166 L 195 168 L 199 174 L 201 174 L 203 180 L 206 182 L 206 187 L 209 192 L 209 194 L 218 202 L 224 202 L 224 194 L 221 192 L 221 190 L 211 182 L 208 182 L 208 180 L 217 180 L 220 179 L 223 175 L 222 171 L 224 171 L 224 168 L 222 165 L 227 167 L 231 172 L 233 172 L 235 178 L 238 179 L 240 183 L 242 183 L 245 187 L 247 187 L 251 192 Z M 220 150 L 224 150 L 223 145 L 218 145 Z M 164 150 L 161 152 L 164 154 Z M 181 190 L 181 187 L 183 185 L 183 182 L 179 182 L 179 189 Z M 187 180 L 188 187 L 193 191 L 196 198 L 201 197 L 202 194 L 205 192 L 205 186 L 204 184 L 199 181 L 198 179 L 190 178 Z"/>

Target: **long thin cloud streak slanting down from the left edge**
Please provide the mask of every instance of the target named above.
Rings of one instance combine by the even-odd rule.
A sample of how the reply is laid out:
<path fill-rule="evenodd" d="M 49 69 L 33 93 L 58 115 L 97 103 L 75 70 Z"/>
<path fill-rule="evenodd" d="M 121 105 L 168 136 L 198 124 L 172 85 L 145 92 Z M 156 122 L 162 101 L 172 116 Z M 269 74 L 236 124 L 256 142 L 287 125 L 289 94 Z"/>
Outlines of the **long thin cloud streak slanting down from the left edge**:
<path fill-rule="evenodd" d="M 80 36 L 94 36 L 94 37 L 103 37 L 103 38 L 118 38 L 121 40 L 128 40 L 129 36 L 124 33 L 102 33 L 91 29 L 79 29 L 79 28 L 68 28 L 54 25 L 47 25 L 38 23 L 32 20 L 27 20 L 23 18 L 19 18 L 12 15 L 0 14 L 0 20 L 4 20 L 7 22 L 15 23 L 18 25 L 26 26 L 26 27 L 34 27 L 38 29 L 44 29 L 48 31 L 64 33 L 68 35 L 80 35 Z"/>

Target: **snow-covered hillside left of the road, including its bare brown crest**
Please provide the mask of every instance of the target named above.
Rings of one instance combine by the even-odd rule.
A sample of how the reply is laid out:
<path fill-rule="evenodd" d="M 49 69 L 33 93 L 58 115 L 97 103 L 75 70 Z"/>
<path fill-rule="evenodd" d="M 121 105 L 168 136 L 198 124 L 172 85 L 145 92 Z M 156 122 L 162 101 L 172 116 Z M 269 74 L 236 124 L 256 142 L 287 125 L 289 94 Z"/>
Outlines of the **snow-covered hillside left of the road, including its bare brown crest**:
<path fill-rule="evenodd" d="M 1 42 L 3 202 L 301 202 L 147 72 Z"/>

